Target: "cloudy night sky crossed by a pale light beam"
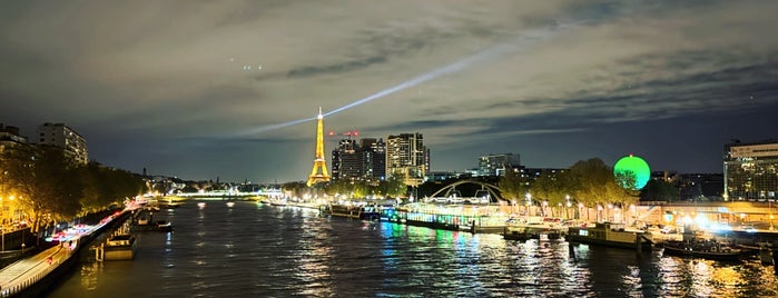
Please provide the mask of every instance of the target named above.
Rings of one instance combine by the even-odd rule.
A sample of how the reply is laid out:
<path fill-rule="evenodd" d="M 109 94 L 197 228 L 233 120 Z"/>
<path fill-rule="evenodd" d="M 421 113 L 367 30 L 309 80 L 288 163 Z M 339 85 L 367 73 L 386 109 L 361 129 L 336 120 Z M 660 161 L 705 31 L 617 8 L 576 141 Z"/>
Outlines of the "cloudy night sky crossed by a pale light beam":
<path fill-rule="evenodd" d="M 90 159 L 305 180 L 325 130 L 421 132 L 432 169 L 643 157 L 721 172 L 778 138 L 778 1 L 3 1 L 0 122 Z M 336 139 L 326 140 L 327 159 Z"/>

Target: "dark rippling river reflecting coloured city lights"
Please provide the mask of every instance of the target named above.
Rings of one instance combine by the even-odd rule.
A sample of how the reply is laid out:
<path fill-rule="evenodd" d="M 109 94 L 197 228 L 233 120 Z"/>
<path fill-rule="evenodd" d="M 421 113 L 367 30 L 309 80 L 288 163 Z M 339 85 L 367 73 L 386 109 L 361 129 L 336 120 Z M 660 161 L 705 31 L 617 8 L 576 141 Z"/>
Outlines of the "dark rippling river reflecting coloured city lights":
<path fill-rule="evenodd" d="M 161 210 L 132 261 L 81 264 L 48 297 L 774 297 L 756 261 L 638 256 L 563 241 L 321 217 L 223 201 Z"/>

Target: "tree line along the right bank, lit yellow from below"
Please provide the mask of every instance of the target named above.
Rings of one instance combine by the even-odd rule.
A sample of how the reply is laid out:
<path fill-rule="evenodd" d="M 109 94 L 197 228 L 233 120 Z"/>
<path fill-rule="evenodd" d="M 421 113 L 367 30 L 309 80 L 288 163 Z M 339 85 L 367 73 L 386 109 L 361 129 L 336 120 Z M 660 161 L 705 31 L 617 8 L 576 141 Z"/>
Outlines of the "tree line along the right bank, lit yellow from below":
<path fill-rule="evenodd" d="M 520 206 L 529 201 L 533 206 L 542 206 L 545 202 L 551 208 L 579 207 L 579 203 L 588 208 L 604 208 L 609 205 L 624 208 L 638 200 L 679 199 L 679 188 L 667 181 L 649 180 L 644 188 L 636 189 L 633 173 L 627 171 L 614 175 L 613 168 L 600 158 L 580 160 L 568 169 L 545 172 L 539 177 L 522 177 L 513 170 L 506 170 L 504 177 L 494 177 L 493 180 L 479 177 L 479 180 L 495 183 L 503 199 Z M 451 182 L 453 181 L 427 181 L 415 189 L 415 195 L 429 196 Z M 404 185 L 402 179 L 393 176 L 380 182 L 334 180 L 322 183 L 321 187 L 327 196 L 346 195 L 349 198 L 365 198 L 371 195 L 405 198 L 414 191 Z M 462 186 L 463 189 L 467 187 Z M 304 182 L 288 182 L 283 188 L 299 197 L 308 189 Z"/>

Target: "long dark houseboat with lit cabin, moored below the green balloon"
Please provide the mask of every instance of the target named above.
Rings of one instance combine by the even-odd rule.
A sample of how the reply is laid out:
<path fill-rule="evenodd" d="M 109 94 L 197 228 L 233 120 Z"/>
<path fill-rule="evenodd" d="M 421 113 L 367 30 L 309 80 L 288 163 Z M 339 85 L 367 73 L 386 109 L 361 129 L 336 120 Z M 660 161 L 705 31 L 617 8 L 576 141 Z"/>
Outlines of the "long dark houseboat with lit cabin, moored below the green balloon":
<path fill-rule="evenodd" d="M 568 241 L 595 246 L 651 249 L 651 234 L 627 230 L 624 224 L 598 222 L 594 227 L 568 228 Z"/>

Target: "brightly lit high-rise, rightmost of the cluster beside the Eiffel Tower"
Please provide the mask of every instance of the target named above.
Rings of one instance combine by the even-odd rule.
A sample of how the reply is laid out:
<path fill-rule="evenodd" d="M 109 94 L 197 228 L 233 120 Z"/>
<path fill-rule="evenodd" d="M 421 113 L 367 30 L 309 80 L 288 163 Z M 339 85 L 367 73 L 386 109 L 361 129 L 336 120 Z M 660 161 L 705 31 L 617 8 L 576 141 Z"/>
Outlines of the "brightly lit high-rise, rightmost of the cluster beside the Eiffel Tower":
<path fill-rule="evenodd" d="M 401 133 L 386 138 L 386 176 L 402 178 L 406 185 L 418 186 L 430 170 L 430 150 L 422 133 Z"/>

